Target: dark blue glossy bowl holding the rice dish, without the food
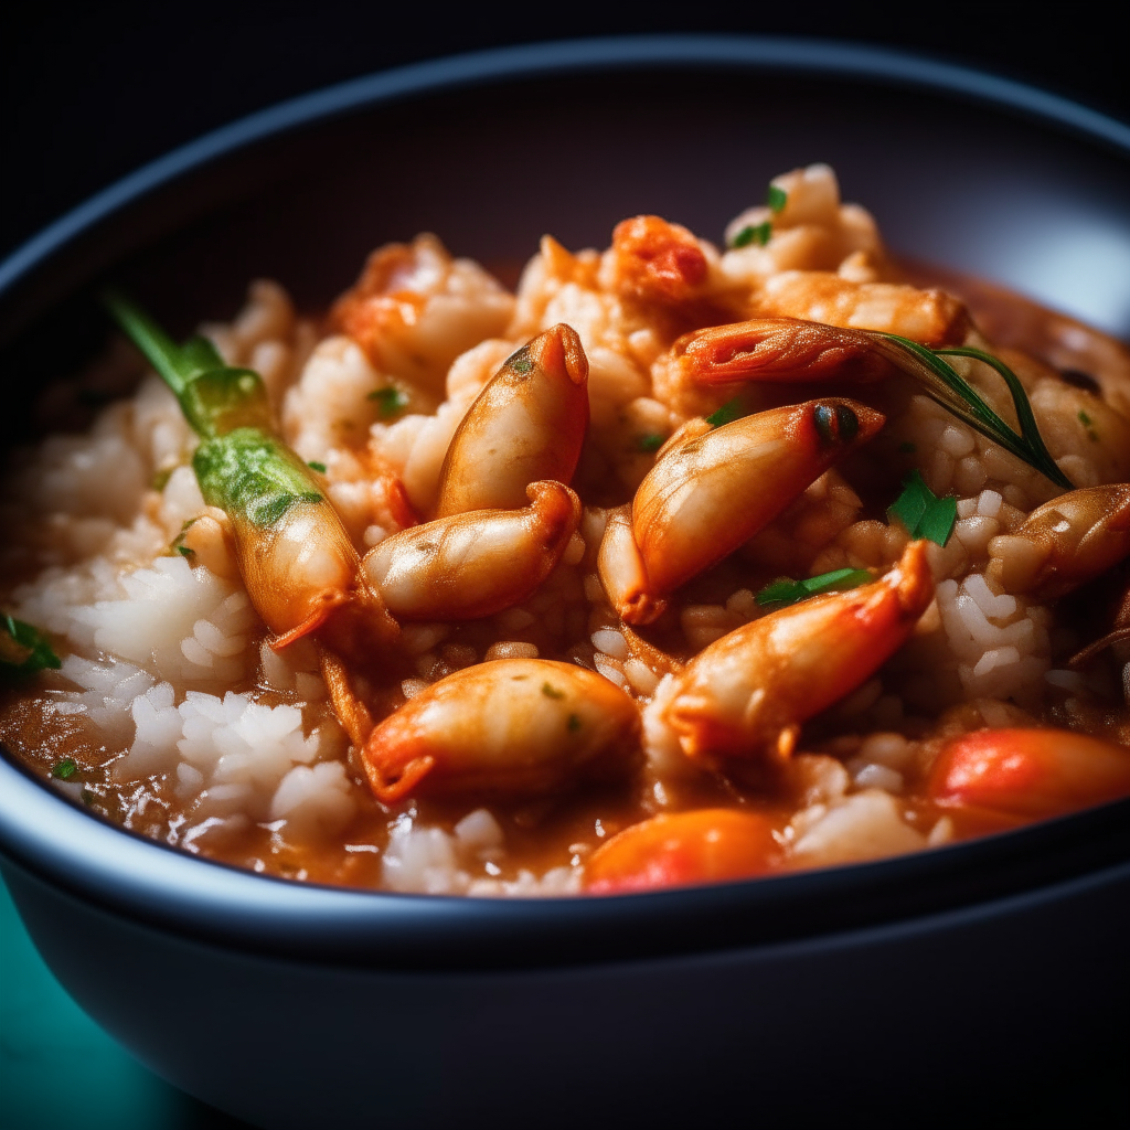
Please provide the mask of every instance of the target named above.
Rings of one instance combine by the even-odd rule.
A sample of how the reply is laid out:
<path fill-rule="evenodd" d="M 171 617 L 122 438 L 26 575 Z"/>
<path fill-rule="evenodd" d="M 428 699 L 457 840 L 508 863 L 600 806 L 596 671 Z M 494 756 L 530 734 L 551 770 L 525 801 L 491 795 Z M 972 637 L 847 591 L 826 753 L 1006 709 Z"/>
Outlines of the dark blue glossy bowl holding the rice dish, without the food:
<path fill-rule="evenodd" d="M 287 103 L 106 190 L 0 264 L 6 438 L 104 341 L 107 277 L 174 329 L 250 277 L 321 305 L 437 232 L 516 267 L 654 211 L 720 237 L 828 160 L 899 252 L 1130 333 L 1130 130 L 864 47 L 507 49 Z M 1130 802 L 921 855 L 651 895 L 495 902 L 267 879 L 92 819 L 0 759 L 3 873 L 92 1016 L 268 1127 L 932 1119 L 1109 1094 Z M 924 1105 L 923 1105 L 924 1104 Z M 984 1106 L 979 1107 L 984 1110 Z"/>

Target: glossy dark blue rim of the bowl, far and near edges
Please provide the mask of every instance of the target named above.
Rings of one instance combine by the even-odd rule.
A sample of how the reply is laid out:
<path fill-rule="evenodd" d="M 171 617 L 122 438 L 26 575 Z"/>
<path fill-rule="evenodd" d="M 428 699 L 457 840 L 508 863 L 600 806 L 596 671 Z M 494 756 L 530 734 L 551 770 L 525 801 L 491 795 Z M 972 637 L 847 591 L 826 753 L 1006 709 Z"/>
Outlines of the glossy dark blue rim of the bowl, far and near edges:
<path fill-rule="evenodd" d="M 914 87 L 1014 112 L 1130 157 L 1130 127 L 1097 111 L 894 49 L 720 35 L 501 47 L 341 82 L 173 150 L 17 247 L 0 263 L 0 301 L 105 220 L 255 142 L 416 96 L 625 68 L 781 71 Z M 597 898 L 392 894 L 294 883 L 193 858 L 92 818 L 0 756 L 0 853 L 18 871 L 112 913 L 207 942 L 385 968 L 572 966 L 811 940 L 938 913 L 980 913 L 1017 899 L 1058 897 L 1057 892 L 1080 885 L 1124 881 L 1130 877 L 1127 828 L 1130 800 L 1122 800 L 912 855 L 741 883 Z M 1034 866 L 1033 858 L 1043 863 Z M 993 866 L 986 868 L 986 860 Z"/>

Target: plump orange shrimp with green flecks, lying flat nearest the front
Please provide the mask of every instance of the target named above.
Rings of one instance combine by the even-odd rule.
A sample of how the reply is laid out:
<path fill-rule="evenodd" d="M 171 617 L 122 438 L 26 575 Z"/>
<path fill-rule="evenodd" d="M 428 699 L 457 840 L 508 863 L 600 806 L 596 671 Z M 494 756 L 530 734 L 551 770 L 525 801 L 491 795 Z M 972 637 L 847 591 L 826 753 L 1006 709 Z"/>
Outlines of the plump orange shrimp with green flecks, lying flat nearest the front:
<path fill-rule="evenodd" d="M 377 799 L 412 792 L 553 792 L 616 777 L 638 758 L 640 712 L 594 671 L 503 659 L 434 683 L 370 734 L 362 763 Z"/>

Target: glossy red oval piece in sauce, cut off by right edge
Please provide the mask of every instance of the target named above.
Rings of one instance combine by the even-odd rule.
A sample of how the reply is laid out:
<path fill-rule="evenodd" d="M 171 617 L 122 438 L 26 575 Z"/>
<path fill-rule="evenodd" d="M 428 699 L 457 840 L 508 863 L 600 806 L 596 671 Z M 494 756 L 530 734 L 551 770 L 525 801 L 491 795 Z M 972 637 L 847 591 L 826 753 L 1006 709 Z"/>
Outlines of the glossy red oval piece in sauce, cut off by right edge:
<path fill-rule="evenodd" d="M 929 792 L 942 807 L 1062 816 L 1130 796 L 1130 753 L 1071 730 L 977 730 L 942 749 Z"/>

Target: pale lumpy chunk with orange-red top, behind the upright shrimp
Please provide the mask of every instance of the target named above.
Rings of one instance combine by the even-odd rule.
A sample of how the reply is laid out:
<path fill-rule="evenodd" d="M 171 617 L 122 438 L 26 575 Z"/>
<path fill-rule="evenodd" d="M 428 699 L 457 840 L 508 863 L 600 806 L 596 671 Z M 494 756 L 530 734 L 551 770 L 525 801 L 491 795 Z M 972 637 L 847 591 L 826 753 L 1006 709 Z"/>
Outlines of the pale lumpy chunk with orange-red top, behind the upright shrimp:
<path fill-rule="evenodd" d="M 451 363 L 484 338 L 499 337 L 514 298 L 469 259 L 453 260 L 434 235 L 374 251 L 354 287 L 330 311 L 384 373 L 442 398 Z"/>

